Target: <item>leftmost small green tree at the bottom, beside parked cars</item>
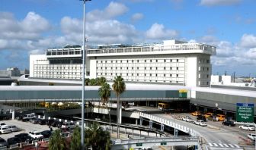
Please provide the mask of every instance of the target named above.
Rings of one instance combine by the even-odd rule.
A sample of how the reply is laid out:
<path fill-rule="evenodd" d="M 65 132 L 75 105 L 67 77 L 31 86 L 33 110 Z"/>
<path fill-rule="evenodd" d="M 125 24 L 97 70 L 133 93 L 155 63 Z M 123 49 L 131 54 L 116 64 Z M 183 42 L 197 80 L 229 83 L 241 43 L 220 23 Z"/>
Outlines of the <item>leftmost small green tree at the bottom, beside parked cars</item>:
<path fill-rule="evenodd" d="M 61 135 L 60 130 L 55 130 L 53 135 L 50 136 L 49 140 L 49 150 L 64 150 L 65 147 L 65 139 Z"/>

